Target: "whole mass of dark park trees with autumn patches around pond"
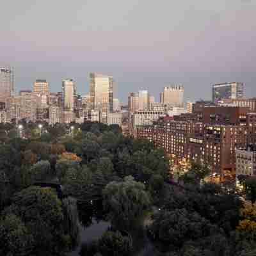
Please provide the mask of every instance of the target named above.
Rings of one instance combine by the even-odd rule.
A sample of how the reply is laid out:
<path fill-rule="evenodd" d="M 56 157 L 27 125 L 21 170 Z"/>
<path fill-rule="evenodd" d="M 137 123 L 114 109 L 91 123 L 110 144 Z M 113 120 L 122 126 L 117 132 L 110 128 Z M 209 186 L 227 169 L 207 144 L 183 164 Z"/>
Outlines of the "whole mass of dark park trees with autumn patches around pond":
<path fill-rule="evenodd" d="M 192 164 L 180 177 L 188 189 L 177 189 L 166 182 L 163 150 L 123 136 L 118 125 L 18 125 L 0 124 L 0 255 L 68 252 L 78 236 L 76 200 L 91 198 L 102 198 L 112 228 L 81 255 L 134 255 L 146 230 L 154 255 L 255 252 L 255 205 L 200 186 L 207 166 Z M 60 183 L 64 198 L 35 182 Z"/>

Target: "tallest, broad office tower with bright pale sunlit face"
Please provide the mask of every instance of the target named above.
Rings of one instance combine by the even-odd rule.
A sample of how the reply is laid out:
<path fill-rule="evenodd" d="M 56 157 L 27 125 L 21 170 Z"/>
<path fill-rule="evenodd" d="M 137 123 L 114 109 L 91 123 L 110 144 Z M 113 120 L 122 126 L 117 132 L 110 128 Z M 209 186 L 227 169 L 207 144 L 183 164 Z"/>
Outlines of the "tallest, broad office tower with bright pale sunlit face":
<path fill-rule="evenodd" d="M 109 105 L 113 111 L 113 77 L 90 73 L 90 97 L 93 108 L 104 108 Z M 103 109 L 104 111 L 106 109 Z"/>

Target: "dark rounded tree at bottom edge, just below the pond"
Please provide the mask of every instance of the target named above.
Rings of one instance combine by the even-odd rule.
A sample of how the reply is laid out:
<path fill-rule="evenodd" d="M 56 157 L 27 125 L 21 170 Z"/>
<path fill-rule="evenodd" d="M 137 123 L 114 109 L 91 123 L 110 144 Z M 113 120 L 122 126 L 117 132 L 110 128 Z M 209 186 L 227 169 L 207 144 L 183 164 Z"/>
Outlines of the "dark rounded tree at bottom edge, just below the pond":
<path fill-rule="evenodd" d="M 132 238 L 122 236 L 119 231 L 106 231 L 99 240 L 99 250 L 102 255 L 129 255 L 132 252 Z"/>

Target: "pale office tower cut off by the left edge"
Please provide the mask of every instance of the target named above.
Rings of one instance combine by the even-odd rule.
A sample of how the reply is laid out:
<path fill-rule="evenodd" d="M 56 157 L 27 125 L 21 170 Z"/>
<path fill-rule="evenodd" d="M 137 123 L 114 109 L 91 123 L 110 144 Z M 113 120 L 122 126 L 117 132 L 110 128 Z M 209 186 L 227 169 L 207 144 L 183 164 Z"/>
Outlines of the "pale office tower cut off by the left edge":
<path fill-rule="evenodd" d="M 0 67 L 0 101 L 5 100 L 14 95 L 14 79 L 13 68 Z"/>

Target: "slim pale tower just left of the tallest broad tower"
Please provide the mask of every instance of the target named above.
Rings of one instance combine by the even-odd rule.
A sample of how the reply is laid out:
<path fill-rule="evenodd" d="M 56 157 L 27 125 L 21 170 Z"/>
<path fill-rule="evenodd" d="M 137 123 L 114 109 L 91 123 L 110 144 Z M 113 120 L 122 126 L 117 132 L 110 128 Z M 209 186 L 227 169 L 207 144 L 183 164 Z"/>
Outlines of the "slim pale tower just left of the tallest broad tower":
<path fill-rule="evenodd" d="M 72 79 L 63 79 L 62 81 L 62 106 L 65 110 L 74 109 L 75 84 Z"/>

